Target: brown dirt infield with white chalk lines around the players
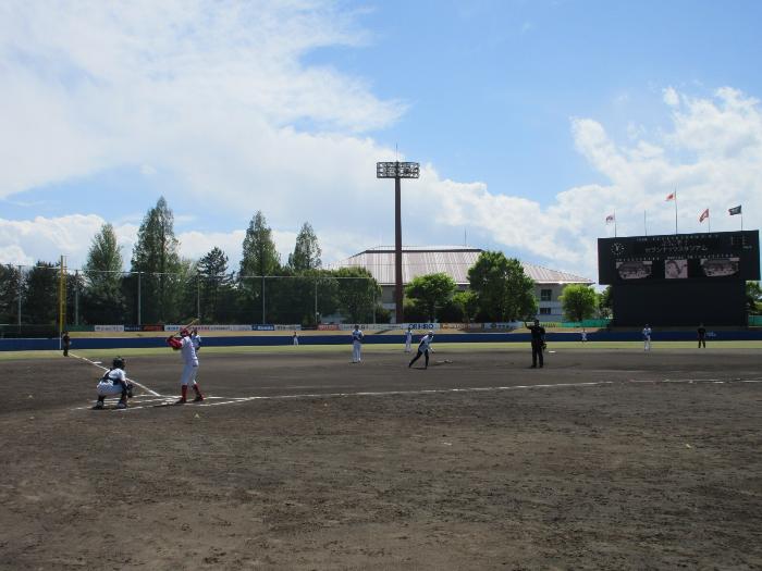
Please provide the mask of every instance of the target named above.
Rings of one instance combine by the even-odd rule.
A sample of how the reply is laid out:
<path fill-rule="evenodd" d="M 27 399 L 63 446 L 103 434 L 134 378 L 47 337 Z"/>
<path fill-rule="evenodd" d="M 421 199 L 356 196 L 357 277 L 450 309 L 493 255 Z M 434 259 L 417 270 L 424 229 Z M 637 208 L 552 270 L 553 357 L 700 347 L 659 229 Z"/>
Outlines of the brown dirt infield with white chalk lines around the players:
<path fill-rule="evenodd" d="M 528 357 L 0 362 L 0 569 L 762 567 L 758 350 Z"/>

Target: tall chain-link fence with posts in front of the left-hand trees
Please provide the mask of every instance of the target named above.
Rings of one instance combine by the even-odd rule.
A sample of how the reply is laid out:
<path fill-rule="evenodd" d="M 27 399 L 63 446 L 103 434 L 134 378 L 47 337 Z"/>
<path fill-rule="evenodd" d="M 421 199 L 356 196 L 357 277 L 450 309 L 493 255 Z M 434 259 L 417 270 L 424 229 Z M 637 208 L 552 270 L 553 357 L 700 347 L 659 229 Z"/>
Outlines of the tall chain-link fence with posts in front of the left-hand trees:
<path fill-rule="evenodd" d="M 242 276 L 101 272 L 58 264 L 0 265 L 0 334 L 87 330 L 119 324 L 157 328 L 192 319 L 207 324 L 320 324 L 389 320 L 372 277 Z M 62 300 L 65 299 L 65 303 Z"/>

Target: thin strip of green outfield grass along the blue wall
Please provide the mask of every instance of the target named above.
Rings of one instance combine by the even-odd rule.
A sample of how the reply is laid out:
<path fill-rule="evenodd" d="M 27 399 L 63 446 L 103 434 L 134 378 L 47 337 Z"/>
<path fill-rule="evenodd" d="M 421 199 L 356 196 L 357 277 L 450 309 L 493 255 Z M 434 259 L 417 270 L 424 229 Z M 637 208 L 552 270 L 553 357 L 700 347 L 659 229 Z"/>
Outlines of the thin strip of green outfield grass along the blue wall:
<path fill-rule="evenodd" d="M 748 342 L 709 342 L 709 349 L 762 349 L 762 340 Z M 642 350 L 642 342 L 555 342 L 548 345 L 549 351 L 567 350 Z M 366 353 L 389 353 L 402 352 L 403 344 L 400 345 L 366 345 L 362 352 Z M 445 352 L 469 352 L 469 351 L 529 351 L 528 343 L 435 343 L 433 345 L 434 357 L 437 353 Z M 669 351 L 678 349 L 697 349 L 696 342 L 653 342 L 651 350 L 654 352 Z M 287 353 L 287 352 L 346 352 L 349 355 L 352 347 L 347 345 L 293 345 L 283 346 L 246 346 L 246 347 L 204 347 L 199 353 L 204 359 L 207 353 L 241 355 L 241 353 Z M 74 355 L 88 359 L 111 359 L 115 353 L 123 357 L 143 357 L 155 355 L 169 355 L 167 347 L 157 348 L 124 348 L 124 349 L 73 349 Z M 53 359 L 61 357 L 61 351 L 0 351 L 0 361 L 11 361 L 17 359 Z"/>

